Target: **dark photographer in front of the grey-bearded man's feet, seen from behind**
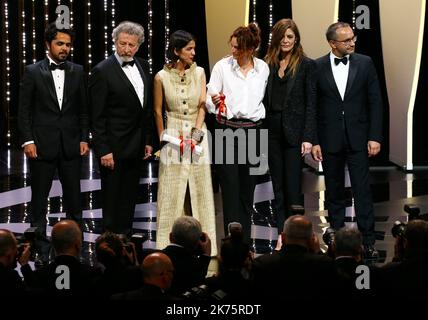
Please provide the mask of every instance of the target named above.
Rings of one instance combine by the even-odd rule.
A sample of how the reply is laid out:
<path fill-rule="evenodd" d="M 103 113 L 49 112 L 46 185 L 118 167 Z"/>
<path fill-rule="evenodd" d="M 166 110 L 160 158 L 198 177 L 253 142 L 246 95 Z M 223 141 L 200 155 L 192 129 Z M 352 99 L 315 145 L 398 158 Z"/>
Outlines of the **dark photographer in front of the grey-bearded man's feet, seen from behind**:
<path fill-rule="evenodd" d="M 105 232 L 95 241 L 95 254 L 103 274 L 96 279 L 97 295 L 109 298 L 115 293 L 140 288 L 141 270 L 134 257 L 133 243 L 124 242 L 112 232 Z"/>

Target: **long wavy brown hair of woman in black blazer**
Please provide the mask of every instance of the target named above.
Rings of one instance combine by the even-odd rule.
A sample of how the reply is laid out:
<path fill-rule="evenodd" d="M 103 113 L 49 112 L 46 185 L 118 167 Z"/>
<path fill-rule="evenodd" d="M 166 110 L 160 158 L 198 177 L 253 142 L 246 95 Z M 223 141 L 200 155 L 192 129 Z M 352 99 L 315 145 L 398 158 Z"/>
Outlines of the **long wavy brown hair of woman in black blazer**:
<path fill-rule="evenodd" d="M 296 36 L 296 43 L 294 44 L 293 51 L 289 62 L 289 68 L 294 76 L 300 62 L 302 61 L 305 53 L 303 52 L 302 44 L 300 43 L 300 32 L 296 23 L 291 19 L 281 19 L 272 28 L 271 43 L 268 48 L 265 61 L 271 67 L 279 67 L 279 62 L 282 59 L 281 40 L 284 38 L 285 31 L 291 29 Z"/>

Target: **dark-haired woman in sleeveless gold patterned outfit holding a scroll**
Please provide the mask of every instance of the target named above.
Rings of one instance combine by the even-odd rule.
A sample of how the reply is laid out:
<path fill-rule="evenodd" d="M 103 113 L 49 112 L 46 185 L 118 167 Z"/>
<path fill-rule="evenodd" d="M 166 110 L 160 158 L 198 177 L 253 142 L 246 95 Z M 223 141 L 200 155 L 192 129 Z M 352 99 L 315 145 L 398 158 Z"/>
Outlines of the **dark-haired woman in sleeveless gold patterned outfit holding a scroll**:
<path fill-rule="evenodd" d="M 154 112 L 159 139 L 172 137 L 179 143 L 161 148 L 157 197 L 156 247 L 169 244 L 174 220 L 192 215 L 211 240 L 211 255 L 217 254 L 210 153 L 205 119 L 205 72 L 193 62 L 195 40 L 182 30 L 171 35 L 170 63 L 155 76 Z M 163 110 L 165 105 L 166 122 Z M 204 137 L 205 136 L 205 137 Z M 170 140 L 169 140 L 170 141 Z M 197 152 L 202 148 L 202 153 Z"/>

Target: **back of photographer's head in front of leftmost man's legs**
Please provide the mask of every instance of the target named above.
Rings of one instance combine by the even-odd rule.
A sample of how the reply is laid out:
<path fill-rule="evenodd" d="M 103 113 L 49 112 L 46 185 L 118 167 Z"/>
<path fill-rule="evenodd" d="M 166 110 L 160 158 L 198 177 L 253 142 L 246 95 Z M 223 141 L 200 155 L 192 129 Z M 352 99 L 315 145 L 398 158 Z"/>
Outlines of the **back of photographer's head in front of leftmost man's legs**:
<path fill-rule="evenodd" d="M 52 246 L 57 255 L 78 256 L 82 248 L 82 233 L 73 220 L 61 220 L 52 229 Z"/>

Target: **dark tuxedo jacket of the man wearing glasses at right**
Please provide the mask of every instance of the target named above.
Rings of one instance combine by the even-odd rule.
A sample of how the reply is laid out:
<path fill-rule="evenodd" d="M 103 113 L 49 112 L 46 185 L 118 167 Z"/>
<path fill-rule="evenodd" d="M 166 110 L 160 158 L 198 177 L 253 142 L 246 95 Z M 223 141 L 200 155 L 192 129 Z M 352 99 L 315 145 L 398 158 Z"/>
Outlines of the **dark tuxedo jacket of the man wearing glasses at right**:
<path fill-rule="evenodd" d="M 366 150 L 369 140 L 381 142 L 382 98 L 371 58 L 357 53 L 350 56 L 343 101 L 334 81 L 330 54 L 317 59 L 316 67 L 316 144 L 325 151 L 338 152 L 343 145 L 344 122 L 352 150 Z"/>

